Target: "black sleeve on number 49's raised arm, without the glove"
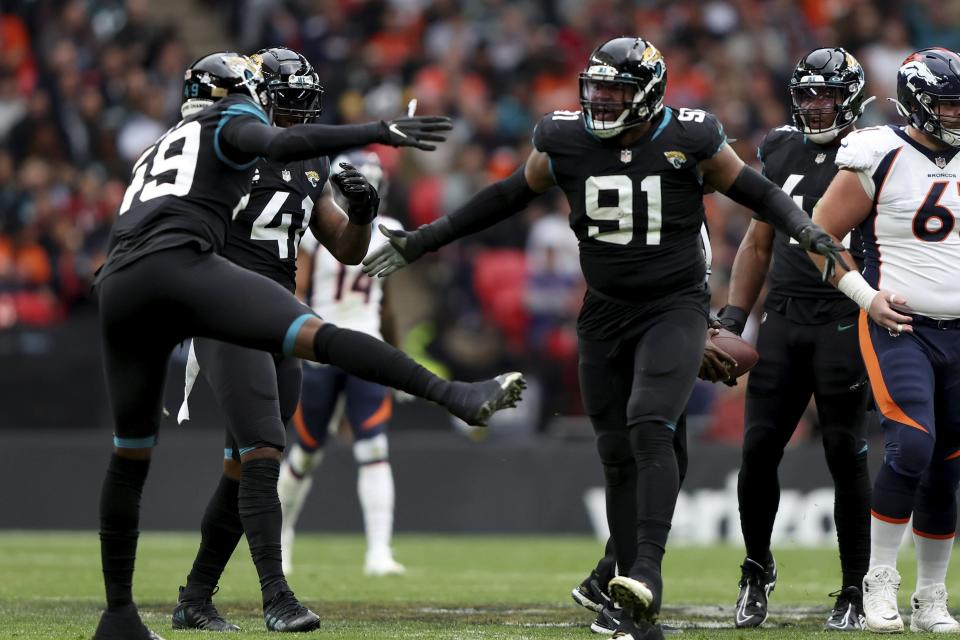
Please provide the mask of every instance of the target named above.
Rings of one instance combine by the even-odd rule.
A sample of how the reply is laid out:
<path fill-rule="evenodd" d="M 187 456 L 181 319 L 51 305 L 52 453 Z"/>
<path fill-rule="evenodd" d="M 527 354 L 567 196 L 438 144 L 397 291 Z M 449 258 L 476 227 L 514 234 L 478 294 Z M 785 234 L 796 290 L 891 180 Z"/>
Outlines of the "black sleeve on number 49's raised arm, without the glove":
<path fill-rule="evenodd" d="M 224 151 L 230 157 L 256 156 L 277 162 L 335 156 L 372 142 L 385 142 L 380 122 L 328 125 L 298 124 L 271 127 L 254 118 L 231 118 L 220 132 Z"/>

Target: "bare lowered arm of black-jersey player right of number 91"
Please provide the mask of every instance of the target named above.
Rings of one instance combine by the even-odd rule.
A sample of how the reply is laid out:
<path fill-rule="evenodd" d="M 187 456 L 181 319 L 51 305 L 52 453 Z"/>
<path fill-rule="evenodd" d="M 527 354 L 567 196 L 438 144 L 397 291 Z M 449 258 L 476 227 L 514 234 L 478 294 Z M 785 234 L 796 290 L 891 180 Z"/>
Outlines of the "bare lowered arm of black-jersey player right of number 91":
<path fill-rule="evenodd" d="M 727 306 L 720 312 L 720 322 L 737 335 L 743 333 L 750 310 L 760 297 L 767 279 L 773 249 L 774 230 L 766 222 L 751 220 L 746 235 L 737 249 L 730 274 Z"/>

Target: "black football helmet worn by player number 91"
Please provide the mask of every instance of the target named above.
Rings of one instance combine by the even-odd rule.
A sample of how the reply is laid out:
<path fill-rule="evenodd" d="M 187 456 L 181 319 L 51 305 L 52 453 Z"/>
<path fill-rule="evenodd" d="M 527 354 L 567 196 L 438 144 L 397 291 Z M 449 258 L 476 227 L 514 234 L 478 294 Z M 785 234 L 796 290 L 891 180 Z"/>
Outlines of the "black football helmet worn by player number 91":
<path fill-rule="evenodd" d="M 663 110 L 667 65 L 643 38 L 608 40 L 590 54 L 580 74 L 580 107 L 587 131 L 612 138 Z"/>

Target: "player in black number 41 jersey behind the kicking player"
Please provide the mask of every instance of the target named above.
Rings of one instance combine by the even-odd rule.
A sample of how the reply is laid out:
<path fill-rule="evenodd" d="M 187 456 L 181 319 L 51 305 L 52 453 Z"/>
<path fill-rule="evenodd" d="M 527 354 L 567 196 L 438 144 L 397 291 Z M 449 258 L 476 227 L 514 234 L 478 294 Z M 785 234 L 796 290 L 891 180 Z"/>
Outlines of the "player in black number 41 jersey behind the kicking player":
<path fill-rule="evenodd" d="M 313 67 L 299 53 L 285 48 L 251 56 L 260 65 L 273 104 L 274 124 L 291 127 L 315 121 L 321 113 L 323 89 Z M 184 102 L 184 115 L 196 110 L 195 100 Z M 376 212 L 378 194 L 352 167 L 328 182 L 330 160 L 313 158 L 287 164 L 260 159 L 253 174 L 247 206 L 230 225 L 222 255 L 232 262 L 274 280 L 291 293 L 296 289 L 296 260 L 300 237 L 309 225 L 330 253 L 357 264 L 370 240 L 369 216 Z M 331 183 L 351 197 L 344 212 L 333 199 Z M 262 440 L 265 429 L 280 438 L 300 399 L 300 359 L 271 354 L 208 338 L 190 347 L 187 390 L 202 372 L 227 418 L 223 476 L 207 505 L 200 525 L 200 549 L 187 584 L 173 611 L 173 628 L 236 631 L 219 614 L 212 595 L 240 537 L 246 533 L 261 588 L 266 592 L 284 579 L 276 563 L 280 514 L 263 511 L 242 518 L 237 502 L 241 454 Z M 189 418 L 187 398 L 180 419 Z M 308 630 L 319 618 L 307 609 L 286 617 L 288 630 Z M 270 627 L 271 619 L 267 620 Z"/>

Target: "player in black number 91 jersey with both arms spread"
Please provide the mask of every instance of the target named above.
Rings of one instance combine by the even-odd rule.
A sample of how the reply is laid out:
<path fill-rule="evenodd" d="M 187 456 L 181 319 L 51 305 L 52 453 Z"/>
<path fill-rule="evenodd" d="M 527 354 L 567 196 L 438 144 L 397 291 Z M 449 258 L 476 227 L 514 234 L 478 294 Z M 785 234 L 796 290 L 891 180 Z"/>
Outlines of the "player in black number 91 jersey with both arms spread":
<path fill-rule="evenodd" d="M 830 256 L 828 265 L 842 249 L 744 165 L 712 114 L 664 107 L 666 77 L 663 56 L 641 38 L 600 45 L 580 74 L 583 111 L 545 116 L 523 166 L 416 231 L 384 230 L 390 244 L 364 260 L 371 275 L 387 275 L 517 213 L 554 185 L 563 189 L 588 287 L 577 323 L 580 386 L 623 573 L 610 590 L 644 626 L 638 633 L 654 635 L 678 490 L 673 435 L 707 330 L 705 184 Z"/>

